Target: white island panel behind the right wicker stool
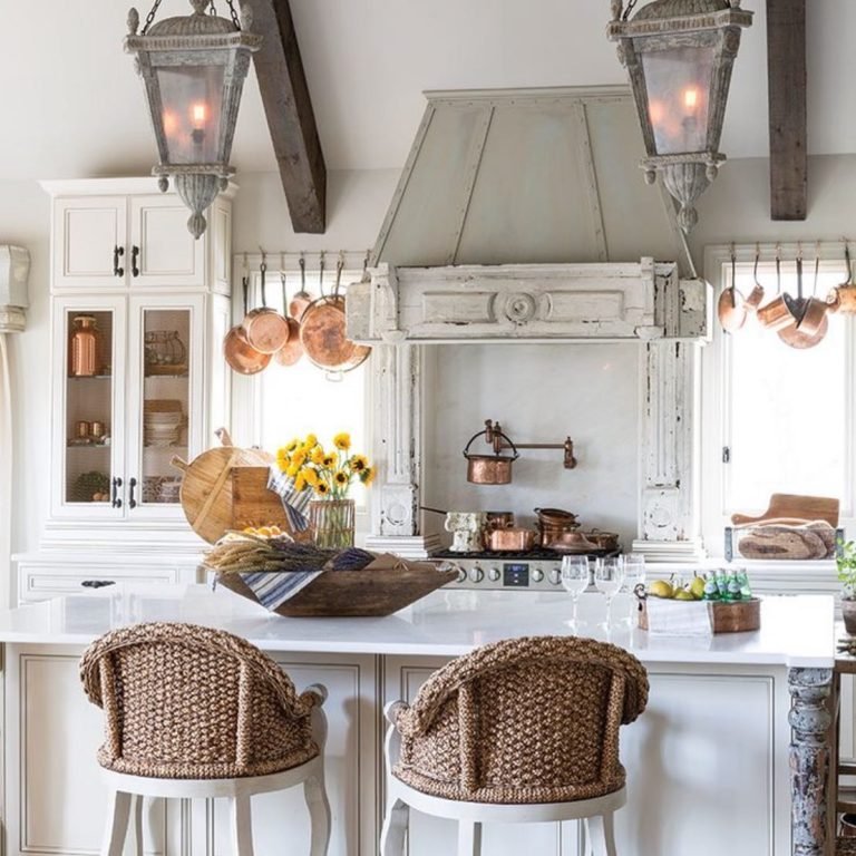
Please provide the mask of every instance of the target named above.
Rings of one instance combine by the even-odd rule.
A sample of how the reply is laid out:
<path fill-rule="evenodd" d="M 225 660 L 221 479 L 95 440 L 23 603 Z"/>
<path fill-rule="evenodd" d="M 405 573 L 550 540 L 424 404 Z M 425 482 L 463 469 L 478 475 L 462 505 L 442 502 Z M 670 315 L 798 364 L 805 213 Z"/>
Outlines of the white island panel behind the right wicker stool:
<path fill-rule="evenodd" d="M 387 658 L 385 703 L 412 700 L 445 661 Z M 790 856 L 787 673 L 653 668 L 648 709 L 621 732 L 622 856 Z M 485 825 L 490 856 L 583 856 L 564 824 Z M 409 856 L 455 853 L 453 821 L 410 813 Z"/>

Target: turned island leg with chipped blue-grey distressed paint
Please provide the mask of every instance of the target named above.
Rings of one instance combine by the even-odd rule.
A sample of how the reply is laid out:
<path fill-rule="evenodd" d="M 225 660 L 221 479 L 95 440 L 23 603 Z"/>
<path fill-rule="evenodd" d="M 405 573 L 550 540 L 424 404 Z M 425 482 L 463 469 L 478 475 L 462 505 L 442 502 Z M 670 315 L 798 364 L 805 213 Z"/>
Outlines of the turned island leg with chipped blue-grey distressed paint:
<path fill-rule="evenodd" d="M 794 856 L 826 856 L 829 849 L 827 810 L 831 758 L 828 730 L 831 716 L 827 699 L 831 684 L 831 669 L 791 669 L 788 672 Z"/>

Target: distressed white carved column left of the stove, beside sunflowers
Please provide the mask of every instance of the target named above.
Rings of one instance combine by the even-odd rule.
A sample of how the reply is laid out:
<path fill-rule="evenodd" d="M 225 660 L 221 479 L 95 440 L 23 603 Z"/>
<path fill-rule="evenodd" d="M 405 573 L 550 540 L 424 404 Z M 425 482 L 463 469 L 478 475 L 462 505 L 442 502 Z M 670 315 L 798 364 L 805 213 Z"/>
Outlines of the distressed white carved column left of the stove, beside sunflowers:
<path fill-rule="evenodd" d="M 420 558 L 438 545 L 419 534 L 421 484 L 421 350 L 415 344 L 381 344 L 372 352 L 372 458 L 379 470 L 371 495 L 369 549 Z"/>

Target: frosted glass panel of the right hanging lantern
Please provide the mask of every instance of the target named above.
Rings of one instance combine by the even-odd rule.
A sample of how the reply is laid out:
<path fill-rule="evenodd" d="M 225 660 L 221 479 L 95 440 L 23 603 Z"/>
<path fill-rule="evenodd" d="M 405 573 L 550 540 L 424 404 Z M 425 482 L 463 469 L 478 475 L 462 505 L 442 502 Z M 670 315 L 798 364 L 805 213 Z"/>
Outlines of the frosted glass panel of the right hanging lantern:
<path fill-rule="evenodd" d="M 712 47 L 642 54 L 648 116 L 658 155 L 707 150 L 713 61 Z"/>

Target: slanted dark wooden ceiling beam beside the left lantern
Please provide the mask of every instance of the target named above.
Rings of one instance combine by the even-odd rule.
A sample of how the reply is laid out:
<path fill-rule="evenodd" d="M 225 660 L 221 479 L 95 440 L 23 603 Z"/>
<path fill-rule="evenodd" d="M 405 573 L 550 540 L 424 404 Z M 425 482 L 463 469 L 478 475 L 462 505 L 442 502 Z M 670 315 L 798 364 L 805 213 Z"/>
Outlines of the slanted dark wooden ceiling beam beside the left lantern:
<path fill-rule="evenodd" d="M 253 0 L 253 55 L 264 114 L 295 232 L 327 228 L 327 166 L 289 0 Z"/>

